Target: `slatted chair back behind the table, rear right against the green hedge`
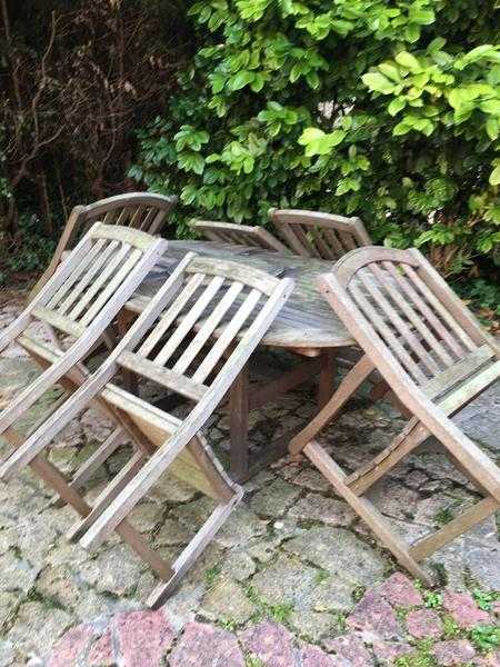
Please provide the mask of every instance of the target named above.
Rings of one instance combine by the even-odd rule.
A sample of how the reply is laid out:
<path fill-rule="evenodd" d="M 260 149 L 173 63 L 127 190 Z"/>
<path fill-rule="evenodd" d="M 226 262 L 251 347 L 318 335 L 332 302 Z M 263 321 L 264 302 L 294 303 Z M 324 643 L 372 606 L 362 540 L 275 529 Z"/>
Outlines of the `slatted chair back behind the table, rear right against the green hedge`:
<path fill-rule="evenodd" d="M 337 260 L 371 245 L 359 218 L 294 209 L 270 209 L 269 217 L 278 236 L 301 257 Z"/>

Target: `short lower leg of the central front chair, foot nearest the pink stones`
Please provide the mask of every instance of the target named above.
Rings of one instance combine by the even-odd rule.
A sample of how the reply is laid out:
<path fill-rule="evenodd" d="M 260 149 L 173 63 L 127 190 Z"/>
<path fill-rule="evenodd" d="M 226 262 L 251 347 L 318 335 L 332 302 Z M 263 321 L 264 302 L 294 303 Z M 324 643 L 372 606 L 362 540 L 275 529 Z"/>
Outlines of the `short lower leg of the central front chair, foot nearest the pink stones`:
<path fill-rule="evenodd" d="M 223 526 L 234 507 L 243 496 L 243 490 L 239 487 L 228 502 L 220 504 L 196 534 L 186 549 L 172 564 L 172 576 L 166 583 L 159 584 L 151 593 L 147 605 L 152 609 L 160 607 L 179 586 L 183 576 L 192 567 L 200 554 L 212 541 L 214 535 Z"/>

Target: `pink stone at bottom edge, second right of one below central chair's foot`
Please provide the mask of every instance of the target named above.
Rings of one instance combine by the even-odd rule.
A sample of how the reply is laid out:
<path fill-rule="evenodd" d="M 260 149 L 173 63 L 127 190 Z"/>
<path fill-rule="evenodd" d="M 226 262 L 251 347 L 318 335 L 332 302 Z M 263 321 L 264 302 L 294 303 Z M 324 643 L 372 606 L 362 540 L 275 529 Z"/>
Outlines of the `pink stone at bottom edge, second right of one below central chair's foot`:
<path fill-rule="evenodd" d="M 264 620 L 240 634 L 247 651 L 264 667 L 293 667 L 293 636 L 282 625 Z"/>

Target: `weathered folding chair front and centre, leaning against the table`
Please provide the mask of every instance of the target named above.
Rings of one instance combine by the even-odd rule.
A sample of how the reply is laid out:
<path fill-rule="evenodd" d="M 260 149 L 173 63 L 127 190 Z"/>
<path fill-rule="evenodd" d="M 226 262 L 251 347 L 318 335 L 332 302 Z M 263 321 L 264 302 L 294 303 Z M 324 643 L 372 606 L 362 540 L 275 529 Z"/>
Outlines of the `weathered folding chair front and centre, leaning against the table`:
<path fill-rule="evenodd" d="M 187 256 L 99 370 L 82 384 L 77 378 L 80 388 L 10 459 L 11 470 L 36 461 L 54 435 L 92 399 L 104 401 L 114 411 L 124 431 L 141 448 L 133 451 L 93 508 L 80 495 L 81 470 L 78 480 L 62 489 L 64 499 L 70 498 L 82 517 L 70 537 L 92 549 L 116 530 L 164 580 L 152 593 L 151 606 L 159 605 L 177 587 L 242 496 L 200 429 L 292 289 L 289 278 L 278 280 L 238 263 Z M 187 417 L 181 420 L 113 385 L 111 380 L 123 369 L 189 399 Z M 101 462 L 108 456 L 108 445 L 98 450 Z M 128 521 L 133 507 L 167 470 L 217 501 L 206 524 L 172 565 L 162 560 Z"/>

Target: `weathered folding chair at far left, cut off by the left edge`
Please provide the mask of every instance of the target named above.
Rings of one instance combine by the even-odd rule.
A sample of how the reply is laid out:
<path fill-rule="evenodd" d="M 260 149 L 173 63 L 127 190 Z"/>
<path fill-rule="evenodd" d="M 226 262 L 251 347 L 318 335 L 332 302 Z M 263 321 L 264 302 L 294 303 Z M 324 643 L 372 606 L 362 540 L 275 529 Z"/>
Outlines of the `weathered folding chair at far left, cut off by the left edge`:
<path fill-rule="evenodd" d="M 56 361 L 38 376 L 28 387 L 16 396 L 0 412 L 0 435 L 11 427 L 26 411 L 53 385 L 58 384 L 70 369 L 91 351 L 106 327 L 116 317 L 123 303 L 130 298 L 144 276 L 151 270 L 167 248 L 167 241 L 149 235 L 123 229 L 126 240 L 121 241 L 121 228 L 116 227 L 112 238 L 110 229 L 96 223 L 78 243 L 70 257 L 59 267 L 24 311 L 0 334 L 0 350 L 14 340 L 28 339 L 26 329 L 32 321 L 49 323 L 56 330 L 69 334 L 71 340 L 68 350 L 60 354 Z M 96 251 L 97 248 L 97 251 Z M 111 248 L 111 250 L 110 250 Z M 99 262 L 107 255 L 112 269 L 108 281 L 94 293 L 93 302 L 86 301 L 82 283 L 86 272 L 92 269 L 92 262 Z M 121 258 L 120 265 L 113 258 Z M 71 296 L 73 310 L 67 311 L 63 305 Z M 22 342 L 22 341 L 21 341 Z M 31 432 L 23 447 L 44 432 L 47 422 Z M 13 451 L 0 466 L 0 478 L 7 479 L 22 465 L 18 460 L 19 449 Z"/>

